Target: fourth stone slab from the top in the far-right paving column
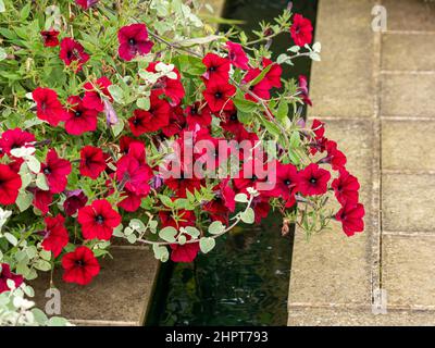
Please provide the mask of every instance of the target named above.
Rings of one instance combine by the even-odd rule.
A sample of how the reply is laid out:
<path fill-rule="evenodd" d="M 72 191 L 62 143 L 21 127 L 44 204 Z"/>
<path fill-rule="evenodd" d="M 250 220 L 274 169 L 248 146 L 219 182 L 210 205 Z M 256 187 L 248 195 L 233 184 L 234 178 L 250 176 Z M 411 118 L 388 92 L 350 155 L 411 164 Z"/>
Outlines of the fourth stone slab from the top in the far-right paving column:
<path fill-rule="evenodd" d="M 435 51 L 435 50 L 434 50 Z M 434 111 L 435 112 L 435 111 Z M 435 171 L 435 119 L 382 122 L 382 166 L 385 171 Z M 421 156 L 424 153 L 424 156 Z"/>

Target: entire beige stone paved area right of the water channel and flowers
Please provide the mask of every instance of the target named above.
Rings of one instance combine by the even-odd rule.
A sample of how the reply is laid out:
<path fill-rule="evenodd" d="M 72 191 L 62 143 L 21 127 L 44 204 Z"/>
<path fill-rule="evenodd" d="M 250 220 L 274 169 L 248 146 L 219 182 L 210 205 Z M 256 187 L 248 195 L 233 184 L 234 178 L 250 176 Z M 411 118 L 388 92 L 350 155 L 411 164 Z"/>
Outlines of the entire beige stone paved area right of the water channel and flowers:
<path fill-rule="evenodd" d="M 366 229 L 297 232 L 288 325 L 435 325 L 435 3 L 320 0 L 316 40 L 309 119 L 360 178 Z M 380 288 L 387 314 L 374 315 Z"/>

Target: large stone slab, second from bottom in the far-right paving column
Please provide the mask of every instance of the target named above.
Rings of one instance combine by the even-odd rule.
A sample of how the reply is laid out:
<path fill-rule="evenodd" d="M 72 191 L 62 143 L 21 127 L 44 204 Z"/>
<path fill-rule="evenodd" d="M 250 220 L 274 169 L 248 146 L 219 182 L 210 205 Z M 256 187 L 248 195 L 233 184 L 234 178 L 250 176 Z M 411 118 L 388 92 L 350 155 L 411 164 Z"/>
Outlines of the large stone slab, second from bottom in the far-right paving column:
<path fill-rule="evenodd" d="M 434 250 L 433 235 L 384 235 L 383 288 L 389 306 L 435 309 Z"/>

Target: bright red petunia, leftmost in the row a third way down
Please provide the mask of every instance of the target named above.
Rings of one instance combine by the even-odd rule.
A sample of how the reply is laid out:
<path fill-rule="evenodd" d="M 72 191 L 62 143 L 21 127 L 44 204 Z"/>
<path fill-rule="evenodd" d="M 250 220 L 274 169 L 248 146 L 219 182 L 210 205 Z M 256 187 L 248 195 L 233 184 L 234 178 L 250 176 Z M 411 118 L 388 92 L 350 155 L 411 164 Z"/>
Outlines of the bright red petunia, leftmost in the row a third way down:
<path fill-rule="evenodd" d="M 36 115 L 50 125 L 57 126 L 67 117 L 66 110 L 58 99 L 58 94 L 50 88 L 36 88 L 33 94 L 36 102 Z"/>

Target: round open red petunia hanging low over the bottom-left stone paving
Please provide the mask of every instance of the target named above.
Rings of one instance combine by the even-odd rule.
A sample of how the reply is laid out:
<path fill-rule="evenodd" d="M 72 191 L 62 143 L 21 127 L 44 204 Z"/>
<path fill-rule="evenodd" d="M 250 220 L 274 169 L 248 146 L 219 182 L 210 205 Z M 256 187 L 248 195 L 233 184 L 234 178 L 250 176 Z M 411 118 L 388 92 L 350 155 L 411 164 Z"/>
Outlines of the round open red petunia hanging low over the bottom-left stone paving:
<path fill-rule="evenodd" d="M 62 268 L 64 269 L 63 281 L 78 285 L 89 284 L 100 273 L 100 264 L 92 250 L 84 246 L 65 253 L 62 258 Z"/>

